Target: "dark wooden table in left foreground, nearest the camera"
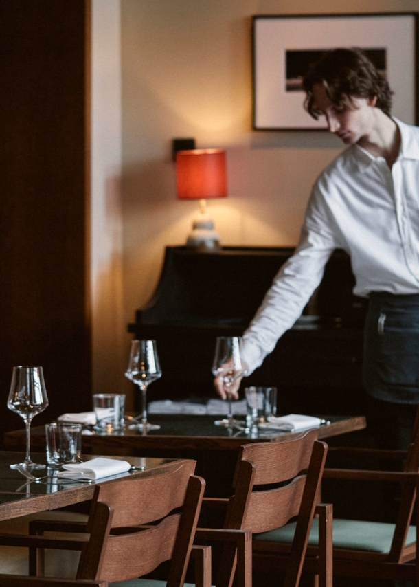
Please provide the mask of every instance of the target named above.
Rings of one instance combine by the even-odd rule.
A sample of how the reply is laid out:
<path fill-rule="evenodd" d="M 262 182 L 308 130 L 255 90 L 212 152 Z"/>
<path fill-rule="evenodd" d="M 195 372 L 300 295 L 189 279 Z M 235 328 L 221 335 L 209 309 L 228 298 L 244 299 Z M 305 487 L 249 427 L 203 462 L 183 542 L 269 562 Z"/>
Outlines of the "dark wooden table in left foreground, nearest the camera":
<path fill-rule="evenodd" d="M 92 483 L 63 483 L 53 476 L 51 468 L 36 469 L 34 475 L 51 475 L 41 483 L 30 481 L 16 469 L 10 469 L 12 463 L 23 460 L 22 453 L 0 451 L 0 520 L 10 520 L 59 507 L 67 507 L 91 500 L 95 485 L 109 483 L 111 480 L 130 477 L 149 477 L 178 467 L 179 459 L 171 458 L 135 458 L 127 457 L 131 465 L 144 467 L 142 471 L 133 471 L 93 481 Z M 45 454 L 33 454 L 34 461 L 45 463 Z M 85 460 L 93 456 L 83 457 Z"/>

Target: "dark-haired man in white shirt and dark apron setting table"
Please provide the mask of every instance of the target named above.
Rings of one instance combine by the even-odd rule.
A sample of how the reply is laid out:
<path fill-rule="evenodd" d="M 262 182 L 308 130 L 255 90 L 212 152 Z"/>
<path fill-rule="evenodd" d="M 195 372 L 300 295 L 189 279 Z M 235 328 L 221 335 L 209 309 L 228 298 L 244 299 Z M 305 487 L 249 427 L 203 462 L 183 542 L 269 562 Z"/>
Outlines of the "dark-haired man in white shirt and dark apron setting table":
<path fill-rule="evenodd" d="M 247 373 L 293 326 L 332 251 L 346 250 L 354 293 L 370 300 L 363 379 L 374 426 L 381 445 L 405 448 L 419 403 L 419 129 L 391 118 L 387 81 L 359 49 L 325 54 L 304 89 L 307 111 L 348 148 L 313 186 L 295 254 L 245 331 Z M 219 379 L 216 389 L 225 397 Z"/>

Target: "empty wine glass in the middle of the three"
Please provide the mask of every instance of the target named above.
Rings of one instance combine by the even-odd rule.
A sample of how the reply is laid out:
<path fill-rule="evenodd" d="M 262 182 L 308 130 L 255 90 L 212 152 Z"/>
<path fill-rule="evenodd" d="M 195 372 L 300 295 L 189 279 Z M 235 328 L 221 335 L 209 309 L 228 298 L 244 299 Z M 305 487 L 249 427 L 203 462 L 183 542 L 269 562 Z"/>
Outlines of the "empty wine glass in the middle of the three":
<path fill-rule="evenodd" d="M 159 430 L 159 425 L 150 424 L 147 421 L 147 388 L 152 381 L 161 377 L 155 340 L 133 340 L 131 342 L 130 359 L 125 377 L 139 386 L 142 395 L 141 421 L 129 426 L 129 428 L 137 428 L 143 434 L 146 434 L 148 430 Z M 139 418 L 137 417 L 137 419 Z"/>

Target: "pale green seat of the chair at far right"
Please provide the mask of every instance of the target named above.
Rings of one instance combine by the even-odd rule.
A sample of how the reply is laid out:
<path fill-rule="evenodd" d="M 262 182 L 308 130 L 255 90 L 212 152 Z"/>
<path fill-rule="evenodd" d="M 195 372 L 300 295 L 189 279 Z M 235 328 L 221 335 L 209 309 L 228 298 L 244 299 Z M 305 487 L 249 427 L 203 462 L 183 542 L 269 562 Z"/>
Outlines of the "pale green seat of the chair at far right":
<path fill-rule="evenodd" d="M 256 542 L 293 542 L 295 522 L 286 524 L 269 532 L 253 535 Z M 333 548 L 354 549 L 372 551 L 376 553 L 388 553 L 392 546 L 394 524 L 384 522 L 364 522 L 363 520 L 333 520 Z M 319 539 L 318 520 L 313 520 L 308 544 L 317 545 Z M 416 527 L 410 526 L 407 533 L 406 544 L 415 542 Z"/>

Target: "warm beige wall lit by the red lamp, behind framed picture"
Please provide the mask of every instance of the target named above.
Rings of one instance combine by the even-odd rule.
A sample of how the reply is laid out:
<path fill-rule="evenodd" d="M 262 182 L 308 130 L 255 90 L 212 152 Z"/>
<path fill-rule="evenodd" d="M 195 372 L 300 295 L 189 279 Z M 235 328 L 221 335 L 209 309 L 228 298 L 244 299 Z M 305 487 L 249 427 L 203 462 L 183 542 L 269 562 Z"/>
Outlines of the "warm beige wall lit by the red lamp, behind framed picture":
<path fill-rule="evenodd" d="M 208 203 L 224 245 L 295 245 L 310 186 L 341 150 L 327 133 L 251 130 L 251 16 L 416 10 L 419 0 L 120 0 L 123 330 L 197 209 L 176 199 L 172 138 L 227 150 L 229 197 Z"/>

